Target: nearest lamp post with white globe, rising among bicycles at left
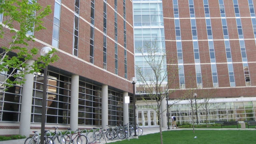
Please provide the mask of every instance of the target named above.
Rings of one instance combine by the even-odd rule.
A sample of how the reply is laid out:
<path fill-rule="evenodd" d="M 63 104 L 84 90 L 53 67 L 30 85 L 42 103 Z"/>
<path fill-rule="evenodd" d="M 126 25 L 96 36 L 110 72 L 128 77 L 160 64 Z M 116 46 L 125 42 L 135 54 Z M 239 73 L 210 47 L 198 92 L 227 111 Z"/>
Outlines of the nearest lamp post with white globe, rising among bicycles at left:
<path fill-rule="evenodd" d="M 47 56 L 48 53 L 52 51 L 52 48 L 45 46 L 41 49 L 41 56 Z M 49 55 L 52 57 L 52 55 Z M 41 142 L 40 144 L 44 144 L 44 129 L 45 129 L 45 117 L 46 117 L 46 89 L 47 89 L 47 72 L 48 66 L 46 65 L 44 68 L 44 85 L 43 85 L 43 100 L 42 100 L 42 117 L 41 117 Z"/>

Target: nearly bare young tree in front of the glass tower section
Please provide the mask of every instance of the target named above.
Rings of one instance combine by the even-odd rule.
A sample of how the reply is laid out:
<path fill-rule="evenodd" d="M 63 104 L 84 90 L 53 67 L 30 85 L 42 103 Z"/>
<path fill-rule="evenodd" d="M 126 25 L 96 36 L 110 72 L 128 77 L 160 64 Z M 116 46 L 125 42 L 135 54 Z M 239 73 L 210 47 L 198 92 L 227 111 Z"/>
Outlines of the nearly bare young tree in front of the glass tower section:
<path fill-rule="evenodd" d="M 160 122 L 160 139 L 162 140 L 162 118 L 161 114 L 166 111 L 161 111 L 161 102 L 166 100 L 166 92 L 172 94 L 179 88 L 179 84 L 175 84 L 174 80 L 178 74 L 178 66 L 174 64 L 174 58 L 166 60 L 166 52 L 160 49 L 157 41 L 144 41 L 143 47 L 138 47 L 137 50 L 141 53 L 143 65 L 136 64 L 136 77 L 139 82 L 137 91 L 144 91 L 144 102 L 150 107 L 153 102 L 156 102 L 157 107 L 154 108 Z M 172 88 L 172 90 L 169 90 Z M 143 96 L 142 96 L 143 97 Z M 179 100 L 177 100 L 178 102 Z M 174 102 L 173 104 L 175 104 Z"/>

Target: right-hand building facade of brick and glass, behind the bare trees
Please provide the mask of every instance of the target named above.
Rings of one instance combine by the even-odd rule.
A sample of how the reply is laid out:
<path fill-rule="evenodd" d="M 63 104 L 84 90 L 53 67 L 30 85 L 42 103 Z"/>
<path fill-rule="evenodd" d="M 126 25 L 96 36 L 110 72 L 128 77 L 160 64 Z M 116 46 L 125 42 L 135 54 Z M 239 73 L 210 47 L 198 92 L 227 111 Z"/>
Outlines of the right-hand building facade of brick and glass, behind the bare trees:
<path fill-rule="evenodd" d="M 158 42 L 160 48 L 166 50 L 167 62 L 168 58 L 177 58 L 172 64 L 178 65 L 176 83 L 180 86 L 169 95 L 171 100 L 183 98 L 187 90 L 200 93 L 212 89 L 216 90 L 213 98 L 238 100 L 223 103 L 225 112 L 220 112 L 226 114 L 223 117 L 218 118 L 220 114 L 209 113 L 209 122 L 220 119 L 255 120 L 255 5 L 254 0 L 134 0 L 135 64 L 144 65 L 143 59 L 139 57 L 141 53 L 136 52 L 136 48 L 145 47 L 146 41 L 154 41 L 157 35 L 154 31 L 159 29 Z M 202 93 L 198 96 L 204 98 Z M 250 97 L 250 108 L 240 99 L 243 97 Z M 150 126 L 151 118 L 154 118 L 150 108 L 137 103 L 137 109 L 142 109 L 137 110 L 137 114 L 142 113 L 138 121 L 143 126 Z M 182 117 L 180 123 L 191 123 L 189 102 L 181 103 L 174 104 L 169 112 Z M 215 104 L 219 105 L 219 101 Z M 228 112 L 228 106 L 231 106 L 233 115 Z M 244 107 L 244 112 L 237 110 L 240 106 Z M 199 111 L 203 123 L 205 114 Z M 247 112 L 250 116 L 247 116 Z M 188 117 L 185 118 L 185 115 Z"/>

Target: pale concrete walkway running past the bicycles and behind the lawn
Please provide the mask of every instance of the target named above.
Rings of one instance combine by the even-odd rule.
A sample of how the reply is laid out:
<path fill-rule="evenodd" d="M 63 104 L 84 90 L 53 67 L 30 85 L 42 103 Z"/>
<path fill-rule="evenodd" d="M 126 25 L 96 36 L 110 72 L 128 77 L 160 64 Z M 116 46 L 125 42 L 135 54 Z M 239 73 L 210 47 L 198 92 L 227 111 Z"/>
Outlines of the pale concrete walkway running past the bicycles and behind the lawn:
<path fill-rule="evenodd" d="M 143 129 L 143 134 L 142 135 L 146 135 L 146 134 L 153 134 L 153 133 L 157 133 L 160 132 L 159 127 L 153 127 L 153 128 L 142 128 Z M 167 128 L 162 128 L 162 131 L 166 131 Z M 172 127 L 170 126 L 170 130 L 193 130 L 193 128 L 174 128 L 172 129 Z M 255 129 L 241 129 L 241 128 L 196 128 L 195 130 L 255 130 Z M 0 144 L 24 144 L 26 138 L 25 139 L 20 139 L 20 140 L 6 140 L 6 141 L 0 141 Z M 107 143 L 110 142 L 115 142 L 115 141 L 119 141 L 120 139 L 115 138 L 115 140 L 107 140 Z M 101 139 L 101 143 L 100 144 L 106 144 L 104 139 Z"/>

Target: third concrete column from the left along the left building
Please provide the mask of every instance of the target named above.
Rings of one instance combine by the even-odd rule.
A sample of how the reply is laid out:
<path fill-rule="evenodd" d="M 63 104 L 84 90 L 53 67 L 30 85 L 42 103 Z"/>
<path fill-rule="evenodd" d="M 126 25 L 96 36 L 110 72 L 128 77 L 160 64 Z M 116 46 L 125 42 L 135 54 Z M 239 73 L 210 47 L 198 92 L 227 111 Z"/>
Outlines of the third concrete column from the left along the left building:
<path fill-rule="evenodd" d="M 108 85 L 102 85 L 101 124 L 108 128 Z"/>

